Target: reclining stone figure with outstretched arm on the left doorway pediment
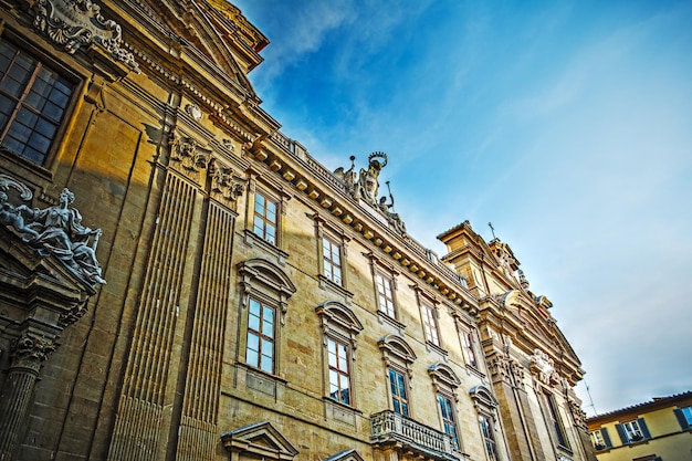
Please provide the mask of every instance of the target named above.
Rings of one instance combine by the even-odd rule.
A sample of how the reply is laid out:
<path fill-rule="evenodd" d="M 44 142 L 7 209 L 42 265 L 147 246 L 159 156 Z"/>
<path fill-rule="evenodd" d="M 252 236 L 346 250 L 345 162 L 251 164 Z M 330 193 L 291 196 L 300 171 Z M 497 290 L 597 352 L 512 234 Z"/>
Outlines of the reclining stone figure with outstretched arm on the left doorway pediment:
<path fill-rule="evenodd" d="M 27 217 L 27 228 L 35 233 L 30 244 L 56 255 L 91 283 L 105 284 L 95 253 L 102 231 L 82 226 L 82 214 L 70 208 L 73 201 L 74 193 L 65 188 L 56 206 L 32 210 L 21 205 L 17 211 Z"/>

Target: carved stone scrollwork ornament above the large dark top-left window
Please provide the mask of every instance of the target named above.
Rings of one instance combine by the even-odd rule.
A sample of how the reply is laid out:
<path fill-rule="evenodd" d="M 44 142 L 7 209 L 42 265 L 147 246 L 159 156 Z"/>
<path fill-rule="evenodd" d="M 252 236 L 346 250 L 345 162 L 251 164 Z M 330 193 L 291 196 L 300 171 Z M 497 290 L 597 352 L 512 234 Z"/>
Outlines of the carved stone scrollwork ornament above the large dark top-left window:
<path fill-rule="evenodd" d="M 139 73 L 133 53 L 120 48 L 120 25 L 105 19 L 101 7 L 91 0 L 36 0 L 31 10 L 33 25 L 54 43 L 74 54 L 83 46 L 96 44 L 129 70 Z"/>

